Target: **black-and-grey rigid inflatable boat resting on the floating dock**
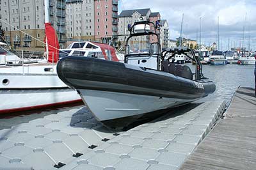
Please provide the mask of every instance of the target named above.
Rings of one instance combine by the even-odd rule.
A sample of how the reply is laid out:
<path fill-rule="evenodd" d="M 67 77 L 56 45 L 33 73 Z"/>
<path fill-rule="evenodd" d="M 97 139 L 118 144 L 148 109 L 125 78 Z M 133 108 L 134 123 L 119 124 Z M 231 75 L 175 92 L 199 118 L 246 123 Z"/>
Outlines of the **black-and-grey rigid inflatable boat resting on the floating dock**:
<path fill-rule="evenodd" d="M 76 89 L 97 120 L 110 128 L 156 118 L 166 109 L 189 104 L 215 91 L 214 82 L 204 77 L 193 50 L 180 47 L 161 53 L 157 29 L 151 31 L 150 27 L 159 26 L 149 21 L 128 26 L 124 63 L 76 56 L 58 62 L 60 79 Z M 134 40 L 141 40 L 141 36 L 155 36 L 157 42 L 136 44 Z M 195 61 L 195 73 L 188 66 L 171 62 L 177 54 Z"/>

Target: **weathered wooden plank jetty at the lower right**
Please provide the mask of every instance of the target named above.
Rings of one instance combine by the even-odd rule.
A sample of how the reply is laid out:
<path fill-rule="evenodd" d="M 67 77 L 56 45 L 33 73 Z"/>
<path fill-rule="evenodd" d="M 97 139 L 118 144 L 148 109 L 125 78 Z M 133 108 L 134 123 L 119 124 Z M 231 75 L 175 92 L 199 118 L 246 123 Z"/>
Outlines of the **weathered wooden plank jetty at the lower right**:
<path fill-rule="evenodd" d="M 256 97 L 239 88 L 225 117 L 205 137 L 182 169 L 255 169 Z"/>

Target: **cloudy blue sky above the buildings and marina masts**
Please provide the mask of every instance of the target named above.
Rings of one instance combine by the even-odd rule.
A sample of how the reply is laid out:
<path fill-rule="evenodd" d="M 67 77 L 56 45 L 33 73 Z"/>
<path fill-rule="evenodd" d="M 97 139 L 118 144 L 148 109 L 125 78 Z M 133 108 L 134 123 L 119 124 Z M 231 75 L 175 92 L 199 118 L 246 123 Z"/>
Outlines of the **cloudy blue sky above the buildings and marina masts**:
<path fill-rule="evenodd" d="M 200 40 L 205 45 L 218 42 L 218 17 L 220 25 L 220 49 L 244 47 L 256 50 L 256 0 L 120 0 L 119 13 L 122 10 L 150 8 L 151 12 L 160 12 L 170 28 L 170 38 L 180 36 L 180 23 L 184 13 L 182 36 Z M 244 28 L 244 31 L 243 31 Z M 229 43 L 228 43 L 229 42 Z"/>

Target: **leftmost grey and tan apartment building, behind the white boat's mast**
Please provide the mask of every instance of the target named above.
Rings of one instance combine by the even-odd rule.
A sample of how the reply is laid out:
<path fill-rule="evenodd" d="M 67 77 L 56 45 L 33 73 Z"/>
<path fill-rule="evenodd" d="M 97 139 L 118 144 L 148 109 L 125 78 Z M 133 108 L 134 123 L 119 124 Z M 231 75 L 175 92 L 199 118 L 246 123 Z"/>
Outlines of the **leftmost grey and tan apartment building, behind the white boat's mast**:
<path fill-rule="evenodd" d="M 60 47 L 65 46 L 66 38 L 66 2 L 50 0 L 50 22 L 58 33 Z M 1 26 L 4 39 L 14 49 L 44 50 L 44 1 L 42 0 L 1 0 Z M 19 31 L 21 30 L 21 31 Z M 26 34 L 24 34 L 24 33 Z M 34 38 L 37 38 L 37 41 Z"/>

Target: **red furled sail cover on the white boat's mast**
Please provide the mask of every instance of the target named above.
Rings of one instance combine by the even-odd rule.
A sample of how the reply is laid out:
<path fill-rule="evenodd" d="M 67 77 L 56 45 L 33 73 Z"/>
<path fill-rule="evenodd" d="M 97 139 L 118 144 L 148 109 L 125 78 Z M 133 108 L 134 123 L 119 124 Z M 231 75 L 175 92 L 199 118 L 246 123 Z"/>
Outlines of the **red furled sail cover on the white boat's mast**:
<path fill-rule="evenodd" d="M 55 29 L 51 26 L 51 23 L 45 23 L 45 37 L 47 38 L 48 45 L 48 61 L 52 63 L 57 63 L 59 59 L 59 49 L 60 45 L 58 42 L 58 36 L 56 35 Z"/>

